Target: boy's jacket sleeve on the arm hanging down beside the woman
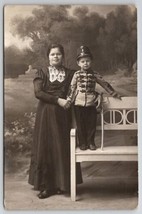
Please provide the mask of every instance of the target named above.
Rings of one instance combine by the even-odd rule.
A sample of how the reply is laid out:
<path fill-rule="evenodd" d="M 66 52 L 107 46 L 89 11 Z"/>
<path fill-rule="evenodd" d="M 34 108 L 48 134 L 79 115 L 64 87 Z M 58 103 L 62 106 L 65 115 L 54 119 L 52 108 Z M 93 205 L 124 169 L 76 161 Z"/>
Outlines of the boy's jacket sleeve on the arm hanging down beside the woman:
<path fill-rule="evenodd" d="M 70 102 L 74 101 L 75 94 L 76 94 L 76 88 L 77 88 L 77 75 L 74 73 L 70 87 L 69 87 L 69 92 L 67 96 L 67 100 Z"/>

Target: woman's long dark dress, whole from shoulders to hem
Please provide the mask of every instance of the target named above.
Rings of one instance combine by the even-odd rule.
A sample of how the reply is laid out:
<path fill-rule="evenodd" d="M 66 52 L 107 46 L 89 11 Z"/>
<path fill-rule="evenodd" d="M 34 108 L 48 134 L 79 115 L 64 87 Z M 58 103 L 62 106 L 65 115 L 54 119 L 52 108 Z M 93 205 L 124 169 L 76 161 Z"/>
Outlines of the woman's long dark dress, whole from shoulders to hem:
<path fill-rule="evenodd" d="M 35 190 L 70 187 L 70 128 L 71 111 L 57 104 L 57 99 L 66 98 L 73 72 L 63 68 L 62 82 L 50 81 L 49 68 L 38 70 L 34 78 L 35 96 L 39 99 L 34 139 L 32 144 L 29 183 Z M 77 182 L 82 182 L 80 166 L 77 167 Z"/>

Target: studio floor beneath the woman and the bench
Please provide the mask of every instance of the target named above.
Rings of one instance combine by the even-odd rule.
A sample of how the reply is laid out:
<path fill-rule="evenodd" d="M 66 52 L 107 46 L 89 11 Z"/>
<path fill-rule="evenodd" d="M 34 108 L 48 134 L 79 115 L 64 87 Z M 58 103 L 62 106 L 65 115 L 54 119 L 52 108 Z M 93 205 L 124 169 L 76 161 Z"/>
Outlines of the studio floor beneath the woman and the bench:
<path fill-rule="evenodd" d="M 4 207 L 6 210 L 130 210 L 138 205 L 137 178 L 85 178 L 77 186 L 77 200 L 70 195 L 38 199 L 38 191 L 27 177 L 5 176 Z"/>

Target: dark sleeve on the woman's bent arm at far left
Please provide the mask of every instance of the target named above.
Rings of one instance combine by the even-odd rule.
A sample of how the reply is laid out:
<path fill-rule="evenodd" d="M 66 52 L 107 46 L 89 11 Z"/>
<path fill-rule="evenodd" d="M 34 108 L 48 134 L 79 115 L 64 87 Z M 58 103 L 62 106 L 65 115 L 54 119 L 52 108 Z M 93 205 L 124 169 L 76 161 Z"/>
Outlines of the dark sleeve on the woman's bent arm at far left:
<path fill-rule="evenodd" d="M 48 94 L 43 90 L 45 74 L 42 70 L 38 70 L 33 80 L 35 97 L 43 102 L 57 104 L 58 96 Z"/>

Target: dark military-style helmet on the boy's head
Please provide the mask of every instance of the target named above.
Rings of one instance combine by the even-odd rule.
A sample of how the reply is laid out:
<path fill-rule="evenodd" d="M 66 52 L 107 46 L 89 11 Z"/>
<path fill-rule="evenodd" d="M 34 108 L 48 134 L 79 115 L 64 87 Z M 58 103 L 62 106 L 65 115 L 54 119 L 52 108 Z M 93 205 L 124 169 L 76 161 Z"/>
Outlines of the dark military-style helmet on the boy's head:
<path fill-rule="evenodd" d="M 91 60 L 93 59 L 92 53 L 87 46 L 80 46 L 77 50 L 77 61 L 83 57 L 90 57 Z"/>

